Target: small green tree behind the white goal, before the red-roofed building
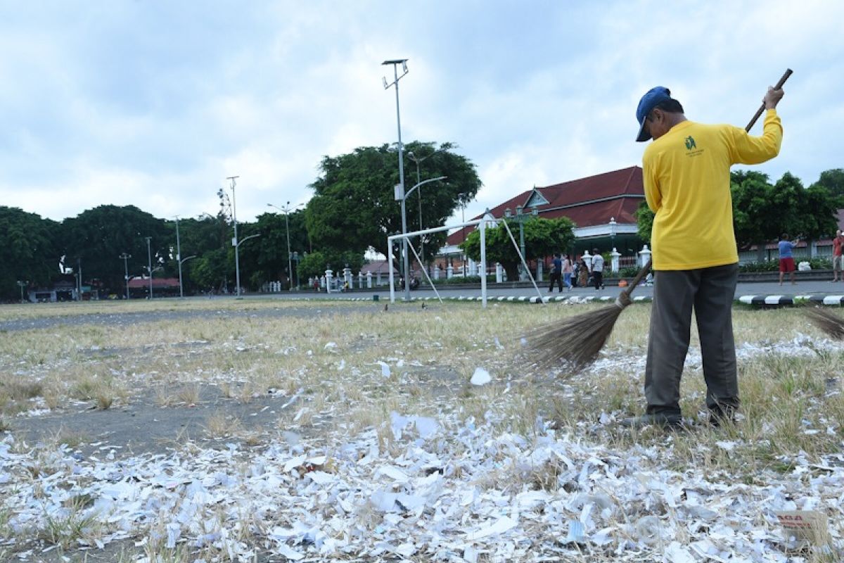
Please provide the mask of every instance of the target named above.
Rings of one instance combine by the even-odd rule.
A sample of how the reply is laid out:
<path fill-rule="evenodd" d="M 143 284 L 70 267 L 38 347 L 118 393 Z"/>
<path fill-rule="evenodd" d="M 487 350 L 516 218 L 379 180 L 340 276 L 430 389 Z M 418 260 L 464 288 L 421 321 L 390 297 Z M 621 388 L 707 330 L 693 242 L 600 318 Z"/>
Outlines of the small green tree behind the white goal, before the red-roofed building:
<path fill-rule="evenodd" d="M 505 219 L 507 225 L 519 242 L 519 225 L 513 219 Z M 563 252 L 575 240 L 575 224 L 567 217 L 557 219 L 532 218 L 524 224 L 525 260 L 533 260 L 550 256 L 555 252 Z M 519 260 L 516 248 L 513 246 L 506 228 L 499 225 L 486 229 L 486 259 L 488 262 L 498 262 L 504 267 L 507 279 L 518 278 Z M 480 260 L 480 231 L 473 230 L 460 243 L 463 252 L 473 260 Z"/>

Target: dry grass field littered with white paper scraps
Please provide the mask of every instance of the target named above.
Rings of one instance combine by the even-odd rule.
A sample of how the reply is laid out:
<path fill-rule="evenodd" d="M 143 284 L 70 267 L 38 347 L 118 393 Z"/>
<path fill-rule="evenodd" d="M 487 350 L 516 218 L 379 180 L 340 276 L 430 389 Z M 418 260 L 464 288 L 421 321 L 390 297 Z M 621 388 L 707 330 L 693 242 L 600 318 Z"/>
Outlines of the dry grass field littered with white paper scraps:
<path fill-rule="evenodd" d="M 840 560 L 841 344 L 737 308 L 738 422 L 703 424 L 693 333 L 698 424 L 629 430 L 648 305 L 581 373 L 522 343 L 594 307 L 4 306 L 0 560 Z"/>

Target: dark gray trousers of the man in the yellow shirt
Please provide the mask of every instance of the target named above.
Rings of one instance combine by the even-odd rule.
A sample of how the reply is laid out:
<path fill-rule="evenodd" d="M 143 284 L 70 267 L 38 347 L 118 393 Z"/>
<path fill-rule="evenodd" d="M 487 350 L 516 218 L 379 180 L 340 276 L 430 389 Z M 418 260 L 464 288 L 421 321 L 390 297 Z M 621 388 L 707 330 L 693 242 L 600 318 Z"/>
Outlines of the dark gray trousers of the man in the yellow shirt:
<path fill-rule="evenodd" d="M 733 295 L 738 264 L 654 272 L 651 332 L 647 341 L 647 413 L 680 414 L 680 376 L 689 350 L 691 313 L 701 337 L 706 406 L 738 408 Z"/>

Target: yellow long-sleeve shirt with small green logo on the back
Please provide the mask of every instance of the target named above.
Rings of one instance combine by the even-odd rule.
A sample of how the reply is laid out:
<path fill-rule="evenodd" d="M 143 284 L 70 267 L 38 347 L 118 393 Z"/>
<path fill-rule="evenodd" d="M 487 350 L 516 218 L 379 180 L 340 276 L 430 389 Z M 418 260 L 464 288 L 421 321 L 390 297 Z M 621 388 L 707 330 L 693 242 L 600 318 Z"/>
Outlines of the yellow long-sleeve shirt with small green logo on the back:
<path fill-rule="evenodd" d="M 780 152 L 782 123 L 768 110 L 764 133 L 732 125 L 680 122 L 642 156 L 653 269 L 690 270 L 738 262 L 730 166 L 771 160 Z"/>

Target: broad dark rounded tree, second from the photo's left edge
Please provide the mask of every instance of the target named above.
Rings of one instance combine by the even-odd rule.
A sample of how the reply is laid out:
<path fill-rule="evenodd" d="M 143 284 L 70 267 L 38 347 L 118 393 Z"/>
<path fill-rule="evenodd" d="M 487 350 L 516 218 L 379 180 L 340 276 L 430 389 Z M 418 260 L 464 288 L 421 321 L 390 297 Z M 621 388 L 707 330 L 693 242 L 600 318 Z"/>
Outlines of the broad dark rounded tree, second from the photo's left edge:
<path fill-rule="evenodd" d="M 124 286 L 123 252 L 130 276 L 147 273 L 149 254 L 153 269 L 163 267 L 175 247 L 176 235 L 164 219 L 141 211 L 133 205 L 100 205 L 62 222 L 61 253 L 66 264 L 82 268 L 83 283 L 100 280 L 104 290 L 122 294 Z M 159 274 L 160 275 L 160 274 Z"/>

